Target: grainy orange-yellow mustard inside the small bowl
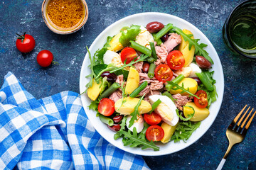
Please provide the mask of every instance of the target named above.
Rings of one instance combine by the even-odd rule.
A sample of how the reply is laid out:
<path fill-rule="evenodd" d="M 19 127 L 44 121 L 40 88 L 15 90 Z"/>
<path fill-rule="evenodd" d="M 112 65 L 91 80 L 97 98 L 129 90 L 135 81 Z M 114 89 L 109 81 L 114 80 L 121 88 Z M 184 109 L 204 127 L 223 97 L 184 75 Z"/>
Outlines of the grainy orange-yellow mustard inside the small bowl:
<path fill-rule="evenodd" d="M 85 7 L 81 0 L 50 0 L 46 13 L 53 27 L 59 30 L 71 30 L 82 23 Z"/>

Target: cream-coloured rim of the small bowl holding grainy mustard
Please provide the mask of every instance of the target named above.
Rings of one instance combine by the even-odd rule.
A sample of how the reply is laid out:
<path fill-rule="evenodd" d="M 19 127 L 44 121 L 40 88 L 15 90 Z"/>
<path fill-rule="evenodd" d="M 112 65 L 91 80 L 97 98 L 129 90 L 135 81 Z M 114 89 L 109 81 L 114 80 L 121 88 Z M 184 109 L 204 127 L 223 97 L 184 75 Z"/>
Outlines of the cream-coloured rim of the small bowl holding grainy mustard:
<path fill-rule="evenodd" d="M 46 18 L 46 8 L 44 8 L 50 0 L 44 0 L 43 3 L 42 3 L 42 7 L 41 7 L 41 13 L 42 13 L 42 16 L 43 16 L 43 21 L 44 23 L 46 23 L 46 26 L 51 30 L 53 31 L 53 33 L 57 33 L 57 34 L 61 34 L 61 35 L 68 35 L 68 34 L 71 34 L 71 33 L 75 33 L 76 31 L 80 30 L 83 26 L 85 26 L 85 23 L 87 22 L 87 19 L 88 19 L 88 16 L 89 16 L 89 10 L 88 10 L 88 6 L 87 6 L 87 3 L 85 0 L 80 0 L 82 1 L 82 4 L 85 6 L 85 18 L 84 20 L 82 21 L 82 23 L 80 23 L 80 25 L 78 27 L 75 27 L 73 30 L 58 30 L 56 28 L 54 28 L 53 26 L 50 26 L 50 23 L 49 21 L 47 20 Z"/>

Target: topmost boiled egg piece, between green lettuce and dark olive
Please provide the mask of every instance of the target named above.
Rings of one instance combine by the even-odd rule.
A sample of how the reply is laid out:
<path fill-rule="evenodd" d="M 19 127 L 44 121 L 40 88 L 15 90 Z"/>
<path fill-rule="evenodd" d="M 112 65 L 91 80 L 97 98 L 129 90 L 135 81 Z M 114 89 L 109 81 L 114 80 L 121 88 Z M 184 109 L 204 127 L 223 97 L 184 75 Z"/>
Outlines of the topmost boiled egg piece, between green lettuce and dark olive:
<path fill-rule="evenodd" d="M 141 31 L 139 35 L 137 35 L 135 42 L 150 49 L 149 42 L 154 42 L 153 36 L 151 35 L 151 33 L 149 33 L 148 30 L 146 30 L 146 28 L 144 28 L 144 26 L 141 26 L 140 30 Z"/>

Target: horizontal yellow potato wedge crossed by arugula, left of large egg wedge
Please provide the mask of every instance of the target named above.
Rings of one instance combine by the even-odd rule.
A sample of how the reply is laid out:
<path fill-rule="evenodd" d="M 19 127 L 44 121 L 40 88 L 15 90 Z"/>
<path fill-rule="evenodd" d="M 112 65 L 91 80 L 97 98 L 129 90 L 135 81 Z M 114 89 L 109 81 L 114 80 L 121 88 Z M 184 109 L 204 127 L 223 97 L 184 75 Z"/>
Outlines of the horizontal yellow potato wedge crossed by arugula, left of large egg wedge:
<path fill-rule="evenodd" d="M 129 115 L 132 112 L 134 112 L 135 106 L 139 103 L 139 98 L 120 98 L 116 103 L 114 103 L 114 109 L 117 113 L 120 113 L 122 115 Z M 122 103 L 122 106 L 121 106 Z M 139 106 L 139 114 L 148 113 L 151 111 L 152 106 L 149 102 L 142 100 L 141 105 Z"/>

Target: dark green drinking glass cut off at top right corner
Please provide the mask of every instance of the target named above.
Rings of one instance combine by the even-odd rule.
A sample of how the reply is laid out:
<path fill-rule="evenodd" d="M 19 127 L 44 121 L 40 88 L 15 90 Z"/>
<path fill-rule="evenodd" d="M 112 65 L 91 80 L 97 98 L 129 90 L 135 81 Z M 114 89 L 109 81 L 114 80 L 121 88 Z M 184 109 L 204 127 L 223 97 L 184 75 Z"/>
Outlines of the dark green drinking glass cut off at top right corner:
<path fill-rule="evenodd" d="M 256 0 L 235 6 L 224 23 L 223 39 L 236 54 L 256 59 Z"/>

